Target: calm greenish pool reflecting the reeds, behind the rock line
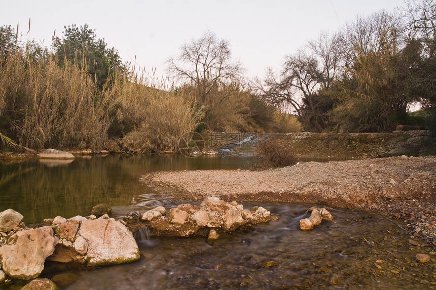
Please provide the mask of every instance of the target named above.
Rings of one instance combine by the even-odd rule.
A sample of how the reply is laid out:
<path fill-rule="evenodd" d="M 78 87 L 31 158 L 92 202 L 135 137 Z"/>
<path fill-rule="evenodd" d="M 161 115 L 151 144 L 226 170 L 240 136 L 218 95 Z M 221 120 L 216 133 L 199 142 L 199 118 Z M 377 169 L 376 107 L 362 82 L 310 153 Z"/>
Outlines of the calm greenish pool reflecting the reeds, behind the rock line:
<path fill-rule="evenodd" d="M 132 210 L 170 205 L 138 178 L 161 170 L 247 168 L 247 158 L 181 155 L 85 156 L 0 164 L 0 211 L 14 209 L 25 223 L 55 216 L 89 215 L 92 206 L 131 205 Z M 134 201 L 132 203 L 132 201 Z M 124 208 L 123 212 L 128 209 Z"/>

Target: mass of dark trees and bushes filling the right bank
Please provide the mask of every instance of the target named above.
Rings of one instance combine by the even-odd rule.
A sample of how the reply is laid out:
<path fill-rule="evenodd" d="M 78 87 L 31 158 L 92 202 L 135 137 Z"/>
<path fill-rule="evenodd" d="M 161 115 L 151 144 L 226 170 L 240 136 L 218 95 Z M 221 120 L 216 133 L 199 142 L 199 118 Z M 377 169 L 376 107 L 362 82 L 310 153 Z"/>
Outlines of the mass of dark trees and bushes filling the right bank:
<path fill-rule="evenodd" d="M 293 109 L 305 130 L 388 132 L 414 125 L 414 102 L 434 123 L 436 1 L 407 1 L 396 14 L 357 17 L 335 33 L 322 32 L 279 74 L 256 82 L 259 95 Z"/>

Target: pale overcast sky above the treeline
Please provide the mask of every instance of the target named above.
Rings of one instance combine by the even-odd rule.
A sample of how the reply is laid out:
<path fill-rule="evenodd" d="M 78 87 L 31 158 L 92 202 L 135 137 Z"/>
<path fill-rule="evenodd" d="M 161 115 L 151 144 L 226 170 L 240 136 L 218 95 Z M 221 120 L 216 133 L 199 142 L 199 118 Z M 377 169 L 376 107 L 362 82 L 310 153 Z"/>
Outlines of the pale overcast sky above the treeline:
<path fill-rule="evenodd" d="M 97 37 L 115 47 L 123 61 L 165 74 L 165 61 L 180 46 L 209 29 L 229 40 L 232 55 L 248 77 L 280 69 L 283 57 L 295 52 L 322 30 L 336 31 L 356 15 L 393 11 L 402 0 L 179 0 L 179 1 L 4 1 L 0 25 L 12 25 L 26 38 L 50 46 L 54 30 L 87 23 Z"/>

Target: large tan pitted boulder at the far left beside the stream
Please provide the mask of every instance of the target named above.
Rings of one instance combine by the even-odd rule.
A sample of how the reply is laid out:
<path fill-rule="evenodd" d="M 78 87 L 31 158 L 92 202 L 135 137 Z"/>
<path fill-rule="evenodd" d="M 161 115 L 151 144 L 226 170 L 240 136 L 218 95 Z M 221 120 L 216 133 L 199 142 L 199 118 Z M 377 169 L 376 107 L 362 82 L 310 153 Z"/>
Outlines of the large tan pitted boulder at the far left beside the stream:
<path fill-rule="evenodd" d="M 53 254 L 55 238 L 51 227 L 17 232 L 15 244 L 0 247 L 2 268 L 15 279 L 33 279 L 44 269 L 44 261 Z"/>

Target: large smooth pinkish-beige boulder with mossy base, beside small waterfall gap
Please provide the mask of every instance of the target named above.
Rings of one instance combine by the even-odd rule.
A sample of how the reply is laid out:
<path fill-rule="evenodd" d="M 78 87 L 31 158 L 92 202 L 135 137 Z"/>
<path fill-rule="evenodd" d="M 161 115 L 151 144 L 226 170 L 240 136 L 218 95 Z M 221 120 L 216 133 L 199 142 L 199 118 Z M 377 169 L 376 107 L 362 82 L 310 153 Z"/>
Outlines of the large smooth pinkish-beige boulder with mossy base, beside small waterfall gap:
<path fill-rule="evenodd" d="M 79 234 L 88 243 L 85 259 L 91 266 L 121 264 L 140 258 L 132 233 L 118 221 L 84 220 Z"/>

